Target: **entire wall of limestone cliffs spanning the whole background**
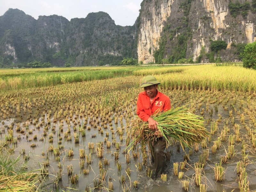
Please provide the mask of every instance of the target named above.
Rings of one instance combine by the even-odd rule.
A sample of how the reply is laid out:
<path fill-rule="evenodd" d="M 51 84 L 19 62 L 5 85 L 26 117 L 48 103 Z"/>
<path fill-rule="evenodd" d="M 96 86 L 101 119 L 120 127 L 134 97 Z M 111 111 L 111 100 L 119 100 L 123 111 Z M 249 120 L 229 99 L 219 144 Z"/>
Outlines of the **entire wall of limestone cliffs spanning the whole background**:
<path fill-rule="evenodd" d="M 143 0 L 135 24 L 125 27 L 105 12 L 70 21 L 58 15 L 35 20 L 9 9 L 0 16 L 0 62 L 87 66 L 117 64 L 124 57 L 143 63 L 238 61 L 245 44 L 256 41 L 255 32 L 256 0 Z"/>

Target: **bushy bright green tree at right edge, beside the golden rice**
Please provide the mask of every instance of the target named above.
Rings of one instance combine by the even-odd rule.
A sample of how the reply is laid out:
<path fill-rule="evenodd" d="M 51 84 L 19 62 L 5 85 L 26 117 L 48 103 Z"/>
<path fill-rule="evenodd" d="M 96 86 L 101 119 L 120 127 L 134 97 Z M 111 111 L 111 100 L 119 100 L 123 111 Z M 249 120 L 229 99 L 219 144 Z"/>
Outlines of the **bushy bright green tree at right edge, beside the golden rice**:
<path fill-rule="evenodd" d="M 256 42 L 248 43 L 244 47 L 244 53 L 240 54 L 243 67 L 256 69 Z"/>

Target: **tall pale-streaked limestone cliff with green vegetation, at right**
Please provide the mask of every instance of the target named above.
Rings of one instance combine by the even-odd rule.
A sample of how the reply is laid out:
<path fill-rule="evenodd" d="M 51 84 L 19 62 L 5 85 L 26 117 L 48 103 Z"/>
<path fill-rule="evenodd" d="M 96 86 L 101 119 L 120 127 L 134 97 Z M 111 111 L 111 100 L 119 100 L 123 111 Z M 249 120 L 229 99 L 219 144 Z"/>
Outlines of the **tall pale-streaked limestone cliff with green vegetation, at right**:
<path fill-rule="evenodd" d="M 239 8 L 232 9 L 232 3 Z M 255 0 L 144 0 L 138 59 L 144 63 L 160 59 L 177 62 L 183 56 L 196 60 L 202 50 L 210 52 L 212 41 L 223 40 L 228 47 L 218 55 L 236 61 L 236 44 L 256 41 L 255 4 Z"/>

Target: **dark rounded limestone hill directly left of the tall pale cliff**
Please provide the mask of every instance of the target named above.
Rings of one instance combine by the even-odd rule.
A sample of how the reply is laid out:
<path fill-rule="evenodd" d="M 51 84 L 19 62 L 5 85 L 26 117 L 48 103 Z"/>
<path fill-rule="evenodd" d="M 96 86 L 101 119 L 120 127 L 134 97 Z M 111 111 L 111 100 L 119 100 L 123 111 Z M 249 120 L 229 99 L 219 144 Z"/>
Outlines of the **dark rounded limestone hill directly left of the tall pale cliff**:
<path fill-rule="evenodd" d="M 78 66 L 119 62 L 124 57 L 134 57 L 135 27 L 117 26 L 105 12 L 72 19 L 64 32 L 65 54 L 70 55 Z"/>

